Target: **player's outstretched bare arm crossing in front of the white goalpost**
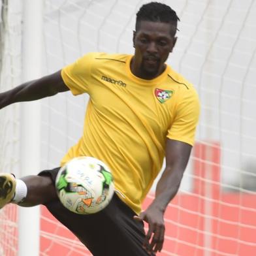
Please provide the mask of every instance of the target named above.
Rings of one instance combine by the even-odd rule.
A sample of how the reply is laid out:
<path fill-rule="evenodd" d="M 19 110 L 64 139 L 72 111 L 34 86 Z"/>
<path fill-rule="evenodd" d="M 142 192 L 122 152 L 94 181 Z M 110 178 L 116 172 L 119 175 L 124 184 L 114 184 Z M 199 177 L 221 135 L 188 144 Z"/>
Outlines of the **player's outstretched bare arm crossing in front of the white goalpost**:
<path fill-rule="evenodd" d="M 0 93 L 0 109 L 12 103 L 35 101 L 68 90 L 69 88 L 61 77 L 61 71 L 57 71 L 54 74 L 25 82 L 14 89 Z"/>

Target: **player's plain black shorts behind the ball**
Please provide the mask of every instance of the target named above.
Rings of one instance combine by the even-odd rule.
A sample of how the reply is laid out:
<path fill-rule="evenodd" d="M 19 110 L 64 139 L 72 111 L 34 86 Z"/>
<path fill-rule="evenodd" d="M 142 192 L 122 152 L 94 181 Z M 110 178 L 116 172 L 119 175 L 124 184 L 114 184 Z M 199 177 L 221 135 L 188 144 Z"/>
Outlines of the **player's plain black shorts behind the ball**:
<path fill-rule="evenodd" d="M 44 170 L 39 175 L 50 176 L 55 184 L 58 170 Z M 46 207 L 94 256 L 150 255 L 142 248 L 143 223 L 133 219 L 135 212 L 116 193 L 108 206 L 96 214 L 74 214 L 59 200 L 46 204 Z"/>

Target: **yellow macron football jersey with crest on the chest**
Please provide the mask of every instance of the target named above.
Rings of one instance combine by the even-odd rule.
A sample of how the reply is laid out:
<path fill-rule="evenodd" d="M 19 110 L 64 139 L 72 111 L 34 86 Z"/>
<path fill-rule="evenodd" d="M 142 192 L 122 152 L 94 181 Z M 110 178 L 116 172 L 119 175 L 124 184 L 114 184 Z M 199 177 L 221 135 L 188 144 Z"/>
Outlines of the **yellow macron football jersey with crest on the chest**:
<path fill-rule="evenodd" d="M 161 170 L 167 138 L 193 145 L 199 99 L 168 65 L 152 80 L 132 74 L 133 56 L 90 53 L 64 67 L 74 95 L 89 94 L 84 133 L 62 159 L 88 155 L 112 170 L 120 198 L 137 214 Z"/>

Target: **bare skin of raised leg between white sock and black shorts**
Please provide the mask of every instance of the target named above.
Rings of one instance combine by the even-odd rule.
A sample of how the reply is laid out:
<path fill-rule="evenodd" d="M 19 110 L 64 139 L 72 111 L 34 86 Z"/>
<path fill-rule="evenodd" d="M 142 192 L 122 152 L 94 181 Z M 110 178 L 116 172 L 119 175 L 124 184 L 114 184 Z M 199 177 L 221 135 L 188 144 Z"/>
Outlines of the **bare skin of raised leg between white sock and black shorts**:
<path fill-rule="evenodd" d="M 57 193 L 52 180 L 48 176 L 25 176 L 22 178 L 27 185 L 27 197 L 19 206 L 31 207 L 57 200 Z"/>

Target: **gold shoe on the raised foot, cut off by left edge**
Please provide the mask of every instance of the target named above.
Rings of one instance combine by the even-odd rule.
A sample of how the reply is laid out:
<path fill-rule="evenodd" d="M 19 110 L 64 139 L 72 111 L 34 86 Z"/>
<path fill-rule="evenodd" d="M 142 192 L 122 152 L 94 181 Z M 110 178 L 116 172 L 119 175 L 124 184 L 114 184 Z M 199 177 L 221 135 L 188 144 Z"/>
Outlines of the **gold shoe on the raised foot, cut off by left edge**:
<path fill-rule="evenodd" d="M 10 202 L 16 189 L 16 180 L 10 173 L 0 173 L 0 209 Z"/>

